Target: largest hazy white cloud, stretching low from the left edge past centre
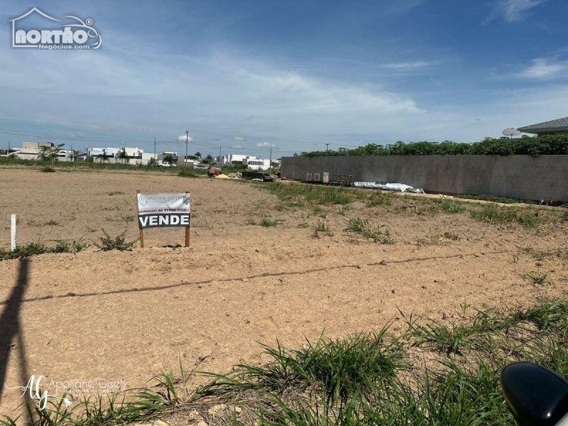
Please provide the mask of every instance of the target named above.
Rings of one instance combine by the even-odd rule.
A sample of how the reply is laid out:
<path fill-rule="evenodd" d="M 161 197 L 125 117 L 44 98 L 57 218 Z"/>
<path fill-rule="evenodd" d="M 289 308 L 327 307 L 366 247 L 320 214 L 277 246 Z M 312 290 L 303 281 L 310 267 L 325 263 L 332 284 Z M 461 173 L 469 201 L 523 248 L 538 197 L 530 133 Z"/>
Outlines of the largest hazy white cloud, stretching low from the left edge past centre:
<path fill-rule="evenodd" d="M 319 140 L 322 133 L 405 128 L 425 112 L 407 95 L 380 86 L 328 81 L 232 54 L 168 58 L 140 53 L 129 45 L 120 49 L 65 58 L 0 50 L 4 100 L 0 112 L 8 112 L 9 105 L 12 117 L 33 117 L 50 125 L 75 124 L 81 129 L 94 126 L 99 132 L 116 129 L 115 133 L 137 133 L 148 139 L 189 126 L 192 134 L 204 140 L 214 129 L 247 134 L 249 140 Z M 45 74 L 35 66 L 38 60 Z M 141 69 L 145 72 L 140 73 Z M 61 102 L 54 103 L 54 97 Z M 41 104 L 53 108 L 41 108 Z M 151 104 L 160 107 L 150 110 Z M 185 133 L 180 141 L 185 141 Z"/>

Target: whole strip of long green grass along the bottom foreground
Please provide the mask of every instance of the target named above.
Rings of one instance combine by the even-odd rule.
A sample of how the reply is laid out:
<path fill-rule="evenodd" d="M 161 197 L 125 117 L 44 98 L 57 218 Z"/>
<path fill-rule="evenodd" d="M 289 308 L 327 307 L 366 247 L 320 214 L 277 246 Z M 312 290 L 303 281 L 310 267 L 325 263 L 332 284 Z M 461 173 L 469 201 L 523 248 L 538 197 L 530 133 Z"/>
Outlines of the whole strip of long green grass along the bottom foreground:
<path fill-rule="evenodd" d="M 532 361 L 568 376 L 568 300 L 540 300 L 529 307 L 494 308 L 452 322 L 407 320 L 408 329 L 349 334 L 289 349 L 262 345 L 261 364 L 239 364 L 230 373 L 165 369 L 151 388 L 87 398 L 65 408 L 50 400 L 28 408 L 32 426 L 95 426 L 148 422 L 180 407 L 223 403 L 215 425 L 503 425 L 514 426 L 501 393 L 500 372 L 514 361 Z M 412 351 L 412 353 L 410 353 Z M 200 378 L 202 383 L 203 378 Z M 238 411 L 237 411 L 238 410 Z M 4 417 L 0 425 L 22 420 Z M 209 422 L 212 420 L 209 419 Z"/>

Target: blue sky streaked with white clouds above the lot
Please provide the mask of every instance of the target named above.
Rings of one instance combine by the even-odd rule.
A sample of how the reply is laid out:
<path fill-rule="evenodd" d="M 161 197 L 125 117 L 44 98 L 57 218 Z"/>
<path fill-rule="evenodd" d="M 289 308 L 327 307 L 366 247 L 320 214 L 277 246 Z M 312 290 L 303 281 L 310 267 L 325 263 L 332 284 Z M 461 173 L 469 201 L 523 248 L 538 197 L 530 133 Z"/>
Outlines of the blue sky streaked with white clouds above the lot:
<path fill-rule="evenodd" d="M 11 48 L 33 6 L 92 18 L 102 47 Z M 479 141 L 568 116 L 566 16 L 565 0 L 4 1 L 0 147 Z"/>

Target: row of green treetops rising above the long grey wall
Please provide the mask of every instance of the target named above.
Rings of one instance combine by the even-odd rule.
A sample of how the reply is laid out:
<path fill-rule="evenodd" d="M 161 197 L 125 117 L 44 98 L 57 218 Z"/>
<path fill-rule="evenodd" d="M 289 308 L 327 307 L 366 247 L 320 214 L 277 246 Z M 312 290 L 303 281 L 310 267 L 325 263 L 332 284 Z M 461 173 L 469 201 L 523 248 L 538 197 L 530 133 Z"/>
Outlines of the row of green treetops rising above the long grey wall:
<path fill-rule="evenodd" d="M 568 135 L 547 135 L 537 138 L 496 139 L 485 138 L 481 142 L 457 143 L 398 141 L 390 145 L 368 143 L 357 148 L 338 148 L 328 151 L 295 153 L 301 157 L 323 156 L 371 156 L 371 155 L 568 155 Z"/>

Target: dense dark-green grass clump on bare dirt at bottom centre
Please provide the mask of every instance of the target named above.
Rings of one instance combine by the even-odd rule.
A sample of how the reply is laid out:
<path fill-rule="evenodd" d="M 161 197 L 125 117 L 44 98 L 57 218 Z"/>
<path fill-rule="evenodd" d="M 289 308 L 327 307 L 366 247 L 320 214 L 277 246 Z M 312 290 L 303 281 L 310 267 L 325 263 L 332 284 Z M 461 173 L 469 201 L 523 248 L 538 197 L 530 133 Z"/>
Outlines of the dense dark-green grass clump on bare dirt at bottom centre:
<path fill-rule="evenodd" d="M 331 403 L 347 403 L 354 393 L 372 395 L 377 382 L 404 366 L 398 340 L 380 332 L 351 334 L 342 339 L 307 341 L 302 349 L 263 345 L 270 361 L 264 366 L 241 364 L 197 391 L 197 398 L 242 391 L 287 390 L 324 395 Z"/>

